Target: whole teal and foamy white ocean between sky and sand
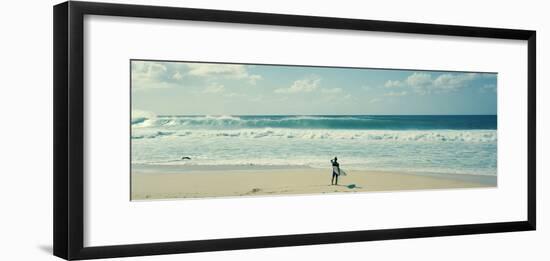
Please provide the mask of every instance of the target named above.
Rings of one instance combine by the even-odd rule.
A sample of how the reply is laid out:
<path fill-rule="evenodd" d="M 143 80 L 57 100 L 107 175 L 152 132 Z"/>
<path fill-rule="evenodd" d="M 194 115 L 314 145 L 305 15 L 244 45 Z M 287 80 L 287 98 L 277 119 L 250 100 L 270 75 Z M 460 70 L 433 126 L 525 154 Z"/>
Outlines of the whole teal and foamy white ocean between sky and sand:
<path fill-rule="evenodd" d="M 496 115 L 132 115 L 132 163 L 497 174 Z M 182 160 L 189 157 L 190 160 Z"/>

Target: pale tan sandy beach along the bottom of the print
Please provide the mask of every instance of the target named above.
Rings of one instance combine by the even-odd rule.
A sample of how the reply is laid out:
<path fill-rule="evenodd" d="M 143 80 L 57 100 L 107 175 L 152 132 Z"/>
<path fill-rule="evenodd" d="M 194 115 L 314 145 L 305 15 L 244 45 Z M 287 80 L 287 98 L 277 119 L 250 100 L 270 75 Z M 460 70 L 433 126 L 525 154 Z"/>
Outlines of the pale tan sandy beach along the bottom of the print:
<path fill-rule="evenodd" d="M 496 176 L 330 169 L 132 166 L 132 200 L 495 187 Z"/>

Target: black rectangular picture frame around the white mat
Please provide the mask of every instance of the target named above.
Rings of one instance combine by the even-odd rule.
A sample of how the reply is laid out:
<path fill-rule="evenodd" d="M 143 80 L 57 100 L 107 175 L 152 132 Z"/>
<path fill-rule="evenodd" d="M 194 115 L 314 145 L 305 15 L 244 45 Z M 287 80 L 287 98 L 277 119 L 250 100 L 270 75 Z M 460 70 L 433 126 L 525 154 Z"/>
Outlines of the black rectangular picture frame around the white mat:
<path fill-rule="evenodd" d="M 535 230 L 536 32 L 176 7 L 64 2 L 54 6 L 54 255 L 94 259 Z M 527 220 L 451 226 L 84 247 L 84 15 L 213 21 L 527 41 Z"/>

